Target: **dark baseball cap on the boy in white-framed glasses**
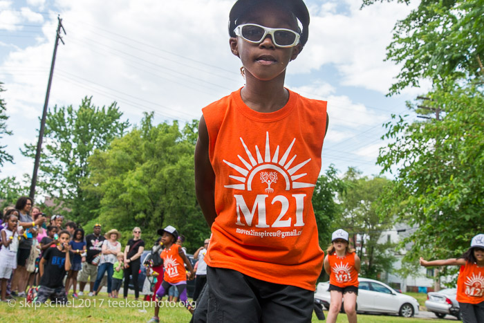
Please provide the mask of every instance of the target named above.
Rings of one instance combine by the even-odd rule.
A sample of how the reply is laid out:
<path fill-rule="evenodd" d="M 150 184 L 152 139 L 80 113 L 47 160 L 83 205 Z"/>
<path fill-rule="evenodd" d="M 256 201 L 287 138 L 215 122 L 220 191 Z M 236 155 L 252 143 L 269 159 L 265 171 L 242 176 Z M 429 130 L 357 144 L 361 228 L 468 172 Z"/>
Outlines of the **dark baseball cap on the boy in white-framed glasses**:
<path fill-rule="evenodd" d="M 269 0 L 237 0 L 229 14 L 229 35 L 230 37 L 235 37 L 234 29 L 237 26 L 236 21 L 245 12 L 250 10 L 252 6 L 260 5 L 260 3 Z M 292 12 L 302 25 L 301 38 L 299 41 L 301 45 L 306 45 L 309 36 L 309 12 L 306 4 L 303 0 L 272 0 L 272 2 L 277 3 L 278 6 L 287 8 Z"/>

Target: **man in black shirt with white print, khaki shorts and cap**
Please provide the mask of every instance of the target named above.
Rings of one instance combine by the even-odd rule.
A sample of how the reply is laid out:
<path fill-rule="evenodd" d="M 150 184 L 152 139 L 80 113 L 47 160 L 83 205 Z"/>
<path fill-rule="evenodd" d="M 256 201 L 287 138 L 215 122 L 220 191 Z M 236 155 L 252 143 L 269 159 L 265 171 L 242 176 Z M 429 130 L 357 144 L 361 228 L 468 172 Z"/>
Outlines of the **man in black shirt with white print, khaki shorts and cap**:
<path fill-rule="evenodd" d="M 104 237 L 101 234 L 100 223 L 95 223 L 93 228 L 93 233 L 86 236 L 86 256 L 82 262 L 82 269 L 77 277 L 79 281 L 79 294 L 84 294 L 84 288 L 89 279 L 89 296 L 93 296 L 95 293 L 94 282 L 97 277 L 97 265 L 100 261 L 102 243 L 104 242 Z M 104 279 L 104 278 L 103 278 Z M 101 282 L 100 286 L 103 286 L 104 282 Z"/>

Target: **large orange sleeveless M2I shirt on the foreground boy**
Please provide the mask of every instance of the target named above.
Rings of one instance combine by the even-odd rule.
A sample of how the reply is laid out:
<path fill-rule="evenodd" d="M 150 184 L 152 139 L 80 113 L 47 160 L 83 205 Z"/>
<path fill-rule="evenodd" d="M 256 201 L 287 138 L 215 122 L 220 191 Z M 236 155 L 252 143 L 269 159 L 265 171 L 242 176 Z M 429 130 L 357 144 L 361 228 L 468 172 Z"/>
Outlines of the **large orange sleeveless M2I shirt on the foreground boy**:
<path fill-rule="evenodd" d="M 326 102 L 289 91 L 260 113 L 240 90 L 203 109 L 215 173 L 216 219 L 205 262 L 315 290 L 324 252 L 311 199 L 321 169 Z"/>

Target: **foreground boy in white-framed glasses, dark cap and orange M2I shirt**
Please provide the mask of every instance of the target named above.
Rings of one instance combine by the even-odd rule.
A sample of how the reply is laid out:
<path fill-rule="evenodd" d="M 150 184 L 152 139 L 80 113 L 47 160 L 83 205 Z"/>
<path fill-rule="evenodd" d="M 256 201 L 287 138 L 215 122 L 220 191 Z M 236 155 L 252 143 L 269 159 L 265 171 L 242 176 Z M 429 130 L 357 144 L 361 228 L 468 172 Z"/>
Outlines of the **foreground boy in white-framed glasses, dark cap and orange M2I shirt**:
<path fill-rule="evenodd" d="M 309 12 L 302 0 L 238 0 L 229 20 L 245 86 L 205 107 L 198 128 L 196 195 L 212 237 L 194 322 L 308 322 L 324 259 L 311 199 L 328 118 L 326 102 L 284 80 Z"/>

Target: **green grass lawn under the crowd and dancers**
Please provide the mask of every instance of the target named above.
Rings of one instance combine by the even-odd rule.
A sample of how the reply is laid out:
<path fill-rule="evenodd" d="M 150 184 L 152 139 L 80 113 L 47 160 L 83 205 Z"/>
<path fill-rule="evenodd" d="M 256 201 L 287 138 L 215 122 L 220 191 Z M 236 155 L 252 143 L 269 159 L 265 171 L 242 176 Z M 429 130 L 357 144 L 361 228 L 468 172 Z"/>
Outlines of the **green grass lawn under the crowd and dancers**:
<path fill-rule="evenodd" d="M 71 297 L 69 300 L 72 302 Z M 145 308 L 143 308 L 145 306 Z M 128 302 L 123 299 L 108 297 L 80 297 L 68 306 L 42 305 L 39 308 L 26 307 L 24 300 L 17 299 L 16 304 L 0 303 L 2 322 L 147 322 L 153 315 L 150 302 L 134 302 L 130 295 Z M 146 311 L 146 313 L 145 313 Z M 327 312 L 325 312 L 327 315 Z M 8 317 L 8 320 L 3 320 Z M 180 307 L 170 307 L 167 303 L 160 308 L 160 322 L 189 322 L 191 314 Z M 313 315 L 312 322 L 318 321 Z M 348 322 L 346 315 L 339 314 L 337 322 Z M 358 322 L 449 322 L 446 320 L 423 320 L 389 315 L 358 315 Z"/>

